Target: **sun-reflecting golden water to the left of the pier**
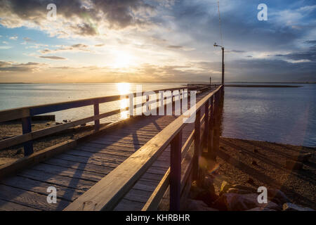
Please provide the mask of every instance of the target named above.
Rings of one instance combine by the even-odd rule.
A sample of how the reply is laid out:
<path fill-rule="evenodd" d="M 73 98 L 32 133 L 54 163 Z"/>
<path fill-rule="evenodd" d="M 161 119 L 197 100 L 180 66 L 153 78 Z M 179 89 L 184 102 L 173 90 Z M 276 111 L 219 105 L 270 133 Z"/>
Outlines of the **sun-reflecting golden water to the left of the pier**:
<path fill-rule="evenodd" d="M 135 93 L 137 85 L 139 84 L 0 84 L 0 110 Z M 141 88 L 143 91 L 154 91 L 184 85 L 141 84 Z M 120 101 L 103 103 L 100 104 L 100 113 L 107 113 L 127 106 L 126 102 Z M 55 115 L 57 122 L 79 120 L 93 116 L 93 105 L 48 113 L 48 115 Z M 100 122 L 117 122 L 125 117 L 126 114 L 113 115 L 100 120 Z"/>

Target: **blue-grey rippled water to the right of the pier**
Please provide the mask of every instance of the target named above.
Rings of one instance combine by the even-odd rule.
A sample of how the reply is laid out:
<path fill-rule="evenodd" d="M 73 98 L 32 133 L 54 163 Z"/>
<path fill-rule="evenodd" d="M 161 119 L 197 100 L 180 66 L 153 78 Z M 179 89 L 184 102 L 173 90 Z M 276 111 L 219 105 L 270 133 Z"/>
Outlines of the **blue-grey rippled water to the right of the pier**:
<path fill-rule="evenodd" d="M 316 146 L 316 84 L 225 87 L 223 136 Z"/>

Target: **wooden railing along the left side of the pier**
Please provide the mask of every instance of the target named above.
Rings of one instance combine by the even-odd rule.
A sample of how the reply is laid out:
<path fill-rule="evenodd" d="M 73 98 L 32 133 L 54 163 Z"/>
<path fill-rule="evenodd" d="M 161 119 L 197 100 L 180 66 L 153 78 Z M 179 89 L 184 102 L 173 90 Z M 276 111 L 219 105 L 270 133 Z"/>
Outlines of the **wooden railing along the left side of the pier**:
<path fill-rule="evenodd" d="M 186 89 L 185 86 L 173 88 L 173 89 L 161 89 L 154 91 L 155 93 L 159 93 L 159 91 L 176 91 L 180 89 Z M 143 92 L 145 93 L 145 92 Z M 141 93 L 140 95 L 143 95 Z M 135 97 L 137 93 L 134 93 L 133 96 Z M 87 122 L 93 122 L 95 124 L 95 130 L 98 131 L 100 129 L 100 119 L 105 117 L 110 117 L 112 115 L 117 115 L 121 113 L 122 109 L 113 110 L 111 112 L 102 113 L 100 114 L 99 105 L 101 103 L 109 103 L 113 101 L 119 101 L 124 95 L 119 96 L 106 96 L 100 98 L 89 98 L 79 101 L 67 101 L 63 103 L 53 103 L 47 105 L 37 105 L 31 107 L 24 107 L 24 108 L 15 108 L 12 110 L 2 110 L 0 111 L 0 122 L 7 122 L 11 120 L 22 119 L 22 135 L 13 136 L 9 139 L 4 139 L 0 141 L 0 150 L 4 148 L 8 148 L 11 146 L 15 146 L 18 144 L 24 145 L 25 155 L 31 155 L 33 153 L 33 143 L 35 139 L 39 139 L 44 136 L 48 136 L 51 134 L 55 134 L 57 132 L 63 131 L 70 127 L 75 127 L 81 124 L 86 124 Z M 126 95 L 129 97 L 129 95 Z M 93 105 L 94 115 L 92 117 L 86 117 L 81 120 L 75 120 L 72 122 L 68 122 L 66 124 L 59 124 L 54 127 L 48 127 L 46 129 L 40 129 L 37 131 L 32 131 L 32 116 L 34 115 L 41 115 L 45 113 L 53 113 L 61 110 L 68 110 L 72 108 L 80 108 L 87 105 Z M 136 105 L 134 105 L 134 108 Z M 129 107 L 126 107 L 123 110 L 129 110 Z"/>

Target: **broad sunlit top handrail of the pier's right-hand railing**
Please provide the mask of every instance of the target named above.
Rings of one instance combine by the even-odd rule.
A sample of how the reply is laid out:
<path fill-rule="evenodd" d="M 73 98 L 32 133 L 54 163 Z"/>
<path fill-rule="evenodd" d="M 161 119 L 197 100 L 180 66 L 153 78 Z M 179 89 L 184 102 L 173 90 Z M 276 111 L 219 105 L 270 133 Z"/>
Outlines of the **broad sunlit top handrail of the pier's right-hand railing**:
<path fill-rule="evenodd" d="M 218 93 L 222 87 L 220 85 L 218 89 L 204 96 L 201 101 L 196 103 L 194 112 L 192 112 L 192 108 L 188 110 L 190 111 L 189 115 L 199 112 L 204 104 L 209 102 L 209 99 Z M 140 179 L 153 162 L 157 160 L 159 155 L 169 146 L 171 141 L 180 134 L 180 131 L 185 126 L 183 122 L 185 115 L 187 113 L 171 122 L 159 134 L 138 149 L 136 153 L 133 153 L 133 155 L 112 170 L 110 174 L 107 174 L 95 186 L 68 205 L 65 210 L 113 210 L 121 198 L 128 193 L 136 181 Z"/>

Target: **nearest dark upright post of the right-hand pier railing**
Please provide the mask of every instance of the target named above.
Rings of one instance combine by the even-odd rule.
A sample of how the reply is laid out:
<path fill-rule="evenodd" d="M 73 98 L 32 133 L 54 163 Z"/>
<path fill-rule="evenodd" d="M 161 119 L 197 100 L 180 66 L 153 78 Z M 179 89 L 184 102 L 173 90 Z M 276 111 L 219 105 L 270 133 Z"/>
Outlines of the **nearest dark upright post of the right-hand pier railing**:
<path fill-rule="evenodd" d="M 171 141 L 170 210 L 180 210 L 182 131 Z"/>

